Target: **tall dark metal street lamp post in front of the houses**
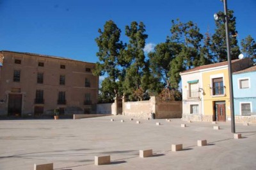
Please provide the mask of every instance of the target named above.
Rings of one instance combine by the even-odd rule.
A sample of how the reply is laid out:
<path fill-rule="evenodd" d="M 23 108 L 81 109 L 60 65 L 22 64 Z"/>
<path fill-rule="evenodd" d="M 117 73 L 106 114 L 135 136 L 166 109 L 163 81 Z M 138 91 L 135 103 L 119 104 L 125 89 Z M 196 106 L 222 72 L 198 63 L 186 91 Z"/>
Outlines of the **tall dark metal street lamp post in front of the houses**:
<path fill-rule="evenodd" d="M 233 96 L 233 79 L 232 79 L 232 65 L 230 58 L 230 44 L 229 44 L 229 29 L 227 16 L 227 0 L 220 0 L 224 4 L 224 15 L 214 13 L 214 20 L 223 19 L 226 28 L 227 54 L 228 54 L 228 77 L 229 77 L 229 93 L 230 93 L 230 116 L 231 116 L 231 132 L 236 133 L 235 114 L 234 114 L 234 96 Z"/>

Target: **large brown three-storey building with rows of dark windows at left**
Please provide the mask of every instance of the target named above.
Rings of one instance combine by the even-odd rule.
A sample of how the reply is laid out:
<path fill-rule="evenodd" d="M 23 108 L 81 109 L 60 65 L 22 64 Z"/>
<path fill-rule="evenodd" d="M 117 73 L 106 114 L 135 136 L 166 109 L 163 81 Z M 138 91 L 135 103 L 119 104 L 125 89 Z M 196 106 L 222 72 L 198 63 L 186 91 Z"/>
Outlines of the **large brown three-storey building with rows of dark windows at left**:
<path fill-rule="evenodd" d="M 11 51 L 0 51 L 0 58 L 0 116 L 96 112 L 95 63 Z"/>

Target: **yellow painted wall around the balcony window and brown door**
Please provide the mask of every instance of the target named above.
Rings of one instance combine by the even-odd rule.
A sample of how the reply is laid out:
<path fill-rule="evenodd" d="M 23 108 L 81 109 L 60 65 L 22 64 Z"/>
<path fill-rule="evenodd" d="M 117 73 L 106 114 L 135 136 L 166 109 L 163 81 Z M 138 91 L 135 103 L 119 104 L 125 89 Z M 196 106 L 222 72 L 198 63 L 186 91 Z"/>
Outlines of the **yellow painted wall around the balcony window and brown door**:
<path fill-rule="evenodd" d="M 211 75 L 223 74 L 223 85 L 224 94 L 222 96 L 214 96 L 211 95 Z M 217 77 L 214 77 L 217 78 Z M 229 80 L 228 80 L 228 68 L 223 68 L 221 70 L 212 70 L 209 72 L 202 73 L 202 82 L 204 89 L 204 115 L 213 115 L 213 106 L 216 101 L 225 101 L 226 103 L 226 116 L 230 117 L 230 102 L 229 102 Z M 227 120 L 226 120 L 227 121 Z"/>

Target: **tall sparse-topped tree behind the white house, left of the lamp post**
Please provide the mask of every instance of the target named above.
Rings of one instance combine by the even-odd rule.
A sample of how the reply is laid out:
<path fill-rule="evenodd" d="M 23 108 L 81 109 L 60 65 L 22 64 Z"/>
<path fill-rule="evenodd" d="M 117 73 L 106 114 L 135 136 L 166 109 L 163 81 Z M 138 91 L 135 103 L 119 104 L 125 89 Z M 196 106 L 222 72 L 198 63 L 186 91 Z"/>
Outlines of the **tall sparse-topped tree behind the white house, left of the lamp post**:
<path fill-rule="evenodd" d="M 188 69 L 200 65 L 200 47 L 204 36 L 192 21 L 186 23 L 180 22 L 179 19 L 176 21 L 172 20 L 170 40 L 182 45 L 179 57 L 183 59 L 183 64 Z"/>

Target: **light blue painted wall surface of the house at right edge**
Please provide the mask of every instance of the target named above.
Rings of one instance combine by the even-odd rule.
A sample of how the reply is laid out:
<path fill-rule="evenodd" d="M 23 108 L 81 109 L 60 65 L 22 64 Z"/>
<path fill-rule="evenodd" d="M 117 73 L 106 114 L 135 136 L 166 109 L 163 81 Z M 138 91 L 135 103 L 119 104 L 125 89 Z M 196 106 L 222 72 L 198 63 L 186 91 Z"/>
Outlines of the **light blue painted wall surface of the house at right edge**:
<path fill-rule="evenodd" d="M 239 89 L 239 79 L 249 78 L 250 88 Z M 240 113 L 240 102 L 252 102 L 252 112 L 256 113 L 256 72 L 233 74 L 234 112 Z"/>

